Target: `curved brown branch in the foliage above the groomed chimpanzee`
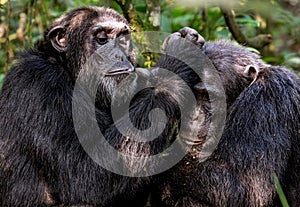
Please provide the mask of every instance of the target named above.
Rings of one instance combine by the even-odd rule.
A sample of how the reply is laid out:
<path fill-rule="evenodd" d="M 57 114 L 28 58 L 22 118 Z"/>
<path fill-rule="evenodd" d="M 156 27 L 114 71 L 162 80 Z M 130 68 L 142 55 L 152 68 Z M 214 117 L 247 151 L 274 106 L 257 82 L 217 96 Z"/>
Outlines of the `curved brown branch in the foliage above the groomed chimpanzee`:
<path fill-rule="evenodd" d="M 235 22 L 233 10 L 221 8 L 225 22 L 231 32 L 233 38 L 240 44 L 247 45 L 256 49 L 262 49 L 272 42 L 271 34 L 259 34 L 253 38 L 247 38 L 241 31 L 240 26 Z"/>

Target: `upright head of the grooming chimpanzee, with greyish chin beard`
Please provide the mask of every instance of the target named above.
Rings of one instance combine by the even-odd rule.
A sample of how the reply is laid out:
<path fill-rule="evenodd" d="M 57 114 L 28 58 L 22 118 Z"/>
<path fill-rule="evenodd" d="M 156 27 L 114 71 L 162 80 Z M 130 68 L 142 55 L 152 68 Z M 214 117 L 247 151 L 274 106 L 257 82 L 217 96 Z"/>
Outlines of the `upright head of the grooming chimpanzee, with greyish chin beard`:
<path fill-rule="evenodd" d="M 134 72 L 129 24 L 109 8 L 83 7 L 67 12 L 53 22 L 39 50 L 59 64 L 73 83 L 83 67 L 88 67 L 84 75 L 87 82 L 97 76 L 102 102 L 110 101 L 116 84 Z"/>

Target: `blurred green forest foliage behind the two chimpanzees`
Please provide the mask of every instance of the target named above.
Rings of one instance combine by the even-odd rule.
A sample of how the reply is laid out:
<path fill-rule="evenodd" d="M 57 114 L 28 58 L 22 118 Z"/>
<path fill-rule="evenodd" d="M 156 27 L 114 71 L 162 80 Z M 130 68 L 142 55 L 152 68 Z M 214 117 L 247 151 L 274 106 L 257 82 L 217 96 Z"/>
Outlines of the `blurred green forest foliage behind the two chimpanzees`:
<path fill-rule="evenodd" d="M 299 0 L 0 0 L 0 86 L 14 57 L 41 40 L 53 19 L 67 10 L 94 5 L 123 14 L 133 34 L 172 33 L 189 26 L 206 41 L 233 40 L 259 53 L 265 62 L 283 64 L 300 75 Z M 140 54 L 138 61 L 150 67 L 155 58 Z"/>

